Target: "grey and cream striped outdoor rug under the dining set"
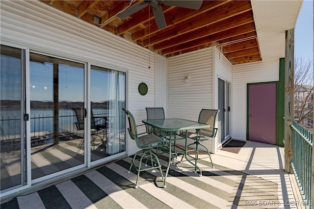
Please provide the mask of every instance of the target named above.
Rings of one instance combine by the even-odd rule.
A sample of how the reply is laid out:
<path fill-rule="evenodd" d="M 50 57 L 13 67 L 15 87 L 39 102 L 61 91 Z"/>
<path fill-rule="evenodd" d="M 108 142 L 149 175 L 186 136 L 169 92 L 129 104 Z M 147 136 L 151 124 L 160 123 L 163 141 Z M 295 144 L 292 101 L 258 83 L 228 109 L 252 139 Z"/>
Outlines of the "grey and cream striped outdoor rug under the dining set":
<path fill-rule="evenodd" d="M 165 171 L 167 157 L 160 156 Z M 181 158 L 179 158 L 181 159 Z M 141 172 L 134 188 L 136 170 L 128 173 L 131 157 L 84 175 L 19 196 L 1 209 L 226 209 L 278 208 L 276 183 L 243 172 L 199 161 L 203 177 L 187 162 L 173 163 L 163 188 L 157 170 Z M 268 203 L 268 204 L 265 204 Z"/>

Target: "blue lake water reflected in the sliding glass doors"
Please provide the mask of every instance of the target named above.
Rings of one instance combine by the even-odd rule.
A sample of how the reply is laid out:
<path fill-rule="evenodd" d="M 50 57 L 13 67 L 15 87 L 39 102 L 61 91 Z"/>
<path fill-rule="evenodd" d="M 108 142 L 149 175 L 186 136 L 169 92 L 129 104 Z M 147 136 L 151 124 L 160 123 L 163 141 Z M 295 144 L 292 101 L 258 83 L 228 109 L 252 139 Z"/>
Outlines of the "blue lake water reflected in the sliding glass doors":
<path fill-rule="evenodd" d="M 93 109 L 93 114 L 106 114 L 104 109 Z M 0 117 L 1 136 L 18 135 L 21 130 L 21 112 L 19 110 L 1 110 Z M 30 110 L 30 132 L 52 132 L 53 110 L 31 109 Z M 71 109 L 59 109 L 59 130 L 62 131 L 66 125 L 73 125 L 76 116 Z"/>

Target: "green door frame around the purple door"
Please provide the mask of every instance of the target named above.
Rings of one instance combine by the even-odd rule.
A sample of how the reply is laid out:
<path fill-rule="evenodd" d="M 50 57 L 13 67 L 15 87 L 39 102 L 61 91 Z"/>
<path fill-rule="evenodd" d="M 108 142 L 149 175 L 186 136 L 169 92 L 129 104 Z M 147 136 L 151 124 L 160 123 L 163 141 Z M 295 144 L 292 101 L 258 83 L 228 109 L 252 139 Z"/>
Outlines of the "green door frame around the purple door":
<path fill-rule="evenodd" d="M 257 82 L 257 83 L 247 83 L 246 84 L 246 140 L 249 139 L 249 86 L 259 85 L 259 84 L 276 84 L 276 145 L 278 145 L 278 101 L 279 101 L 279 81 L 267 81 L 267 82 Z"/>

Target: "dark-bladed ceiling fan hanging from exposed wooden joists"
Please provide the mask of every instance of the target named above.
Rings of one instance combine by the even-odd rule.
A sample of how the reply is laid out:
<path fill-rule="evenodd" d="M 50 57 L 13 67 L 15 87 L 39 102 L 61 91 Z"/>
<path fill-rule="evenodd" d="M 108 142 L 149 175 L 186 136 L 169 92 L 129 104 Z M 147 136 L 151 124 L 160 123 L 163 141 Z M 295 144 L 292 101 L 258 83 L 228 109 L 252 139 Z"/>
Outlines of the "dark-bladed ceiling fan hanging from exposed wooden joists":
<path fill-rule="evenodd" d="M 135 4 L 127 8 L 126 10 L 122 11 L 117 15 L 118 18 L 124 19 L 131 14 L 145 8 L 148 5 L 153 7 L 153 13 L 155 16 L 155 20 L 157 23 L 158 29 L 163 29 L 167 27 L 165 17 L 163 15 L 162 7 L 160 6 L 161 3 L 168 5 L 168 6 L 178 6 L 188 9 L 199 9 L 202 5 L 203 0 L 145 0 L 142 3 Z"/>

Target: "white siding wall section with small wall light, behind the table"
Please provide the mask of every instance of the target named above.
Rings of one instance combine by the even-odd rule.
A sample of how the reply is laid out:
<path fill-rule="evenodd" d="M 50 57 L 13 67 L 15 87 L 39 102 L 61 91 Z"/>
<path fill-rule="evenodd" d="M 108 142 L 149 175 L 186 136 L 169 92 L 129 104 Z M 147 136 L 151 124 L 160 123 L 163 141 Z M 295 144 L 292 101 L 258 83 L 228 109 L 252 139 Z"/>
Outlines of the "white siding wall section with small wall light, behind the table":
<path fill-rule="evenodd" d="M 184 83 L 184 75 L 191 75 Z M 168 58 L 168 117 L 198 120 L 212 108 L 212 48 Z"/>

